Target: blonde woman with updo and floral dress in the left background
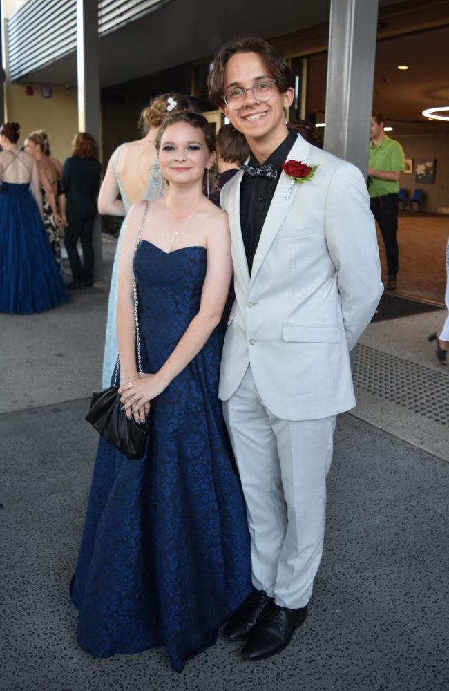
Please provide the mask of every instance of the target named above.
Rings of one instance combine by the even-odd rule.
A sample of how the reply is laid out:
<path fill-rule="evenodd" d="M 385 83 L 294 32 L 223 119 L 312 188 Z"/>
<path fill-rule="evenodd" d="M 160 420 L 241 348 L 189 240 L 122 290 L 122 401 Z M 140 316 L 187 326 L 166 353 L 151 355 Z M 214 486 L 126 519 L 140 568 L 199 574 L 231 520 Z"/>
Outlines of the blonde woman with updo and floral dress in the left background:
<path fill-rule="evenodd" d="M 36 130 L 28 135 L 25 140 L 25 150 L 37 160 L 39 180 L 41 182 L 42 209 L 44 225 L 50 239 L 57 263 L 61 264 L 61 242 L 59 240 L 58 226 L 63 225 L 63 220 L 57 210 L 57 180 L 59 173 L 51 157 L 45 151 L 48 149 L 48 140 L 43 130 Z"/>

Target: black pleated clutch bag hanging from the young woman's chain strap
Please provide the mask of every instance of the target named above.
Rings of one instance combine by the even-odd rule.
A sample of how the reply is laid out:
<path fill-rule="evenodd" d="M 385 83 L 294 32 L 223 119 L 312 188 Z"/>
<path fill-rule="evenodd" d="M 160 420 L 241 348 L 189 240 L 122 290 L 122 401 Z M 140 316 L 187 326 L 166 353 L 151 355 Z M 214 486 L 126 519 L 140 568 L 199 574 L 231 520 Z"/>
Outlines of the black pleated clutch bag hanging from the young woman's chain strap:
<path fill-rule="evenodd" d="M 142 458 L 144 455 L 149 434 L 148 419 L 136 422 L 134 417 L 126 417 L 117 386 L 93 392 L 86 420 L 126 458 Z"/>

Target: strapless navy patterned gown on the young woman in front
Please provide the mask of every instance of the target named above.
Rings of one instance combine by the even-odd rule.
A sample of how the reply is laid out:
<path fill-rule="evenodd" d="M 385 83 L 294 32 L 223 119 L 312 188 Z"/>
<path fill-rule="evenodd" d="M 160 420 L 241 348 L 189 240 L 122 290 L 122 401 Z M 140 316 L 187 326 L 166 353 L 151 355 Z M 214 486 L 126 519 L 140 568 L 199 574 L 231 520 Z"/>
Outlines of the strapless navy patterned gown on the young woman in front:
<path fill-rule="evenodd" d="M 203 247 L 134 259 L 143 369 L 156 372 L 200 307 Z M 71 595 L 98 657 L 165 645 L 181 670 L 252 592 L 249 536 L 217 397 L 222 330 L 151 403 L 142 460 L 100 438 Z"/>

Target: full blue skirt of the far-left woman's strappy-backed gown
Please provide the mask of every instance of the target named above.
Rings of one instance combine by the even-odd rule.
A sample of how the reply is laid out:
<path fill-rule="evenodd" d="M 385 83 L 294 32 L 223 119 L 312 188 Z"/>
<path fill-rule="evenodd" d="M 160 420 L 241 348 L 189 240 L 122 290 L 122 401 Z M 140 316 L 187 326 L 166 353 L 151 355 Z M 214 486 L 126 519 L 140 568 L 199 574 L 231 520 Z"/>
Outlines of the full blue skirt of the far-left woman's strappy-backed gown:
<path fill-rule="evenodd" d="M 68 302 L 29 182 L 0 193 L 0 312 L 34 314 Z"/>

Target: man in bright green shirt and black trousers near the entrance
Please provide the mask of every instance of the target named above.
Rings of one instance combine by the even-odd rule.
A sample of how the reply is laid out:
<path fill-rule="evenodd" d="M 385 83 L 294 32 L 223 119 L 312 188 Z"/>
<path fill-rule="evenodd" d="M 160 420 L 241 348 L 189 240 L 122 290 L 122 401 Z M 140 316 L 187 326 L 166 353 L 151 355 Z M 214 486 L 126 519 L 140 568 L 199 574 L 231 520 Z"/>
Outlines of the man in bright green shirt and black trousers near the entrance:
<path fill-rule="evenodd" d="M 401 144 L 390 139 L 383 129 L 385 117 L 372 111 L 370 129 L 370 162 L 368 164 L 368 192 L 370 208 L 379 224 L 387 255 L 387 290 L 397 286 L 399 247 L 397 243 L 399 175 L 405 168 Z"/>

